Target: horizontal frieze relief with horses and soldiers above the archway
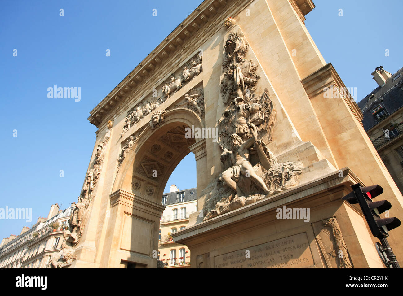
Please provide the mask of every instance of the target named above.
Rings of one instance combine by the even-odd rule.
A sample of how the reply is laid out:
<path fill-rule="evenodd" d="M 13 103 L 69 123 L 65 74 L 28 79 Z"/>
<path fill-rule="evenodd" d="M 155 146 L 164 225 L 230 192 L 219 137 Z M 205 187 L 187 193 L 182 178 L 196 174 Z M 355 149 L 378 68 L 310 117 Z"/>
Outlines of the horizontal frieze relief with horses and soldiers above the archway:
<path fill-rule="evenodd" d="M 143 119 L 145 116 L 148 114 L 152 113 L 158 106 L 160 106 L 161 103 L 166 101 L 170 96 L 172 96 L 176 91 L 181 89 L 183 85 L 191 81 L 193 78 L 195 78 L 197 75 L 199 75 L 202 72 L 203 69 L 203 64 L 202 64 L 202 55 L 197 54 L 197 56 L 194 56 L 187 62 L 184 66 L 184 68 L 181 71 L 181 74 L 178 76 L 175 76 L 173 73 L 169 80 L 164 83 L 161 86 L 161 95 L 158 97 L 158 95 L 153 93 L 152 98 L 148 99 L 143 99 L 141 102 L 137 103 L 136 106 L 131 108 L 127 112 L 127 116 L 125 117 L 125 121 L 123 124 L 123 131 L 120 134 L 121 137 L 123 137 L 123 134 L 130 129 L 133 124 L 137 124 L 140 122 L 141 119 Z M 193 95 L 193 94 L 190 94 Z M 157 98 L 158 97 L 158 98 Z M 193 97 L 192 97 L 193 98 Z M 200 99 L 199 99 L 200 100 Z M 200 107 L 200 102 L 195 101 L 189 101 L 189 106 L 193 106 L 195 108 L 195 112 L 204 112 L 204 108 Z M 199 108 L 196 107 L 199 106 Z"/>

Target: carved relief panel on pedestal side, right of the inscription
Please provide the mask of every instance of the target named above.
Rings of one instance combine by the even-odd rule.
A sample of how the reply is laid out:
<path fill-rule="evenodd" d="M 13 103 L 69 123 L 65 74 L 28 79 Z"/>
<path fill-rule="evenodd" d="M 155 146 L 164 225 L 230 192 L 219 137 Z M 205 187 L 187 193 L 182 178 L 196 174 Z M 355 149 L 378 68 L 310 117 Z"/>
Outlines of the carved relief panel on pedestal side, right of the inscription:
<path fill-rule="evenodd" d="M 353 268 L 347 246 L 335 217 L 312 224 L 316 242 L 327 268 Z"/>

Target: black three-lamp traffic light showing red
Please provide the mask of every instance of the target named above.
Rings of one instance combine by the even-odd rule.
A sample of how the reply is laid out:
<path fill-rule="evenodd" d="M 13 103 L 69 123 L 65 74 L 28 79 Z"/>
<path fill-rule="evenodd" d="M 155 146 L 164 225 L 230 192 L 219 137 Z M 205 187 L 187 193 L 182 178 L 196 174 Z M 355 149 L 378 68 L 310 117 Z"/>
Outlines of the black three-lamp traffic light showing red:
<path fill-rule="evenodd" d="M 388 231 L 399 227 L 401 223 L 396 217 L 379 217 L 381 213 L 392 207 L 388 201 L 372 201 L 372 199 L 383 193 L 382 187 L 379 185 L 361 187 L 359 184 L 354 184 L 350 187 L 353 192 L 342 199 L 350 204 L 359 204 L 373 236 L 379 239 L 389 237 Z"/>

